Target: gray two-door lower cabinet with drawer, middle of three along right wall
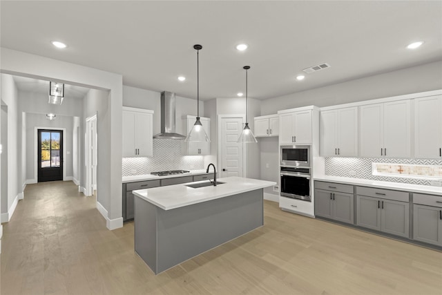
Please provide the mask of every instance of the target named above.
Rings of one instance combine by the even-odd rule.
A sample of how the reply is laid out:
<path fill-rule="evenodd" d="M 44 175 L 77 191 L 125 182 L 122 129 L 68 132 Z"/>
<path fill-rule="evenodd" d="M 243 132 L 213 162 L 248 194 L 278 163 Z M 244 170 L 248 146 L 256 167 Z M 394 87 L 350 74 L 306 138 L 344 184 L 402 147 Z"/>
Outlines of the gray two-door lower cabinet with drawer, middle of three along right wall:
<path fill-rule="evenodd" d="M 410 237 L 408 193 L 367 187 L 356 187 L 356 193 L 356 225 Z M 363 196 L 362 193 L 370 196 Z"/>

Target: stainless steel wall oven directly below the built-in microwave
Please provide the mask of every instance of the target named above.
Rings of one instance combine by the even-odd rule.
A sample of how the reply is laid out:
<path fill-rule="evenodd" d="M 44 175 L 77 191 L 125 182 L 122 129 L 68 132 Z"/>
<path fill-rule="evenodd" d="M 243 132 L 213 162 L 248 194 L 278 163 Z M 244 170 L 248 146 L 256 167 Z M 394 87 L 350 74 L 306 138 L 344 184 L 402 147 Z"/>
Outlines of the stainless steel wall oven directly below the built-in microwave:
<path fill-rule="evenodd" d="M 280 195 L 311 202 L 309 167 L 281 166 Z"/>

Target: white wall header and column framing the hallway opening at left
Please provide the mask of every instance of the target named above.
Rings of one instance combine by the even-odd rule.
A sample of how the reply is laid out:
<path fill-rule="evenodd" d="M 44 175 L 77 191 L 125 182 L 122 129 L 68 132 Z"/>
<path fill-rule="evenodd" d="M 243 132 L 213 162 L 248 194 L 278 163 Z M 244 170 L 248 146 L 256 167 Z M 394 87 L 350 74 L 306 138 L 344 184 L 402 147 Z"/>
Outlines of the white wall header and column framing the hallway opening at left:
<path fill-rule="evenodd" d="M 106 218 L 109 229 L 122 227 L 122 75 L 8 48 L 1 48 L 0 59 L 1 73 L 111 91 L 107 109 L 110 120 L 103 130 L 110 137 L 110 144 L 106 157 L 102 155 L 102 162 L 99 163 L 101 170 L 106 171 L 106 198 L 110 202 L 100 212 Z M 97 178 L 99 181 L 100 175 Z"/>

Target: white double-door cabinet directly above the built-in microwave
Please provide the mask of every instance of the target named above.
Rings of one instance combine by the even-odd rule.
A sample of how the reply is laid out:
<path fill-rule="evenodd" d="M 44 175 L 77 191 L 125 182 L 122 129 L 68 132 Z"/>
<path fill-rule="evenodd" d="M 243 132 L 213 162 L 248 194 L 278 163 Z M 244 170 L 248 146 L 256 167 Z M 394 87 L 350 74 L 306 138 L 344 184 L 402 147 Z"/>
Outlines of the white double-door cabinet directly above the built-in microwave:
<path fill-rule="evenodd" d="M 311 110 L 279 114 L 280 144 L 311 144 Z"/>

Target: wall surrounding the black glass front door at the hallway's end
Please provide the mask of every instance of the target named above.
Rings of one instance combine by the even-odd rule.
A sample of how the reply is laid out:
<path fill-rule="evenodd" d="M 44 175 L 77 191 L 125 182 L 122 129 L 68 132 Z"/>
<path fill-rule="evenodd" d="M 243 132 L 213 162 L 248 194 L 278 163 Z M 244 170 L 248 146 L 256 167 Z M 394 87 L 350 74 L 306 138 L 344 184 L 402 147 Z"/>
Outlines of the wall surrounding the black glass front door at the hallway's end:
<path fill-rule="evenodd" d="M 37 142 L 35 137 L 35 127 L 44 127 L 46 129 L 65 128 L 63 134 L 66 145 L 63 149 L 66 151 L 64 165 L 66 169 L 66 177 L 73 176 L 73 117 L 57 115 L 55 120 L 47 120 L 46 114 L 26 114 L 26 180 L 34 180 L 35 175 L 35 150 Z"/>

